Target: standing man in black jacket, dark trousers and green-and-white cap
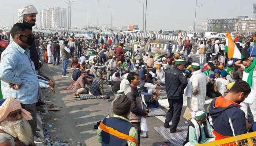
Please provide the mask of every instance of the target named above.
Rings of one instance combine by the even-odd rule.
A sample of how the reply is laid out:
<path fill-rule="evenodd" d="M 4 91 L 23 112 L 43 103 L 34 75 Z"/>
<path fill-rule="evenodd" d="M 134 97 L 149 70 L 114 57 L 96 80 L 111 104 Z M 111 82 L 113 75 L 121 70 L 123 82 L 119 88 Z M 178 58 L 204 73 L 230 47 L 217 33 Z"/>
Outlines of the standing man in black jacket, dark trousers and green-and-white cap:
<path fill-rule="evenodd" d="M 166 114 L 163 126 L 166 128 L 169 127 L 169 122 L 172 120 L 170 132 L 179 132 L 179 130 L 177 130 L 177 126 L 180 121 L 183 93 L 188 84 L 187 78 L 181 72 L 181 70 L 184 69 L 184 64 L 184 60 L 177 59 L 173 68 L 168 69 L 165 72 L 166 93 L 170 109 Z"/>

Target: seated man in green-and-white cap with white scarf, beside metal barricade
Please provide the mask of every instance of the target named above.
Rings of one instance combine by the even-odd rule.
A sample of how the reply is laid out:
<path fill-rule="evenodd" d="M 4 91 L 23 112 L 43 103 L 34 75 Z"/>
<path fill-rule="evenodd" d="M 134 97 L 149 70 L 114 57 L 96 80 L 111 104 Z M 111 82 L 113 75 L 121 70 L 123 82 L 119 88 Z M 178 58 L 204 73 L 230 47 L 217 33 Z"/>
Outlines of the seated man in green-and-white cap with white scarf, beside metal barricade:
<path fill-rule="evenodd" d="M 184 146 L 194 146 L 202 143 L 214 141 L 215 135 L 213 129 L 207 120 L 206 112 L 197 111 L 195 119 L 191 119 L 188 126 L 187 139 Z"/>

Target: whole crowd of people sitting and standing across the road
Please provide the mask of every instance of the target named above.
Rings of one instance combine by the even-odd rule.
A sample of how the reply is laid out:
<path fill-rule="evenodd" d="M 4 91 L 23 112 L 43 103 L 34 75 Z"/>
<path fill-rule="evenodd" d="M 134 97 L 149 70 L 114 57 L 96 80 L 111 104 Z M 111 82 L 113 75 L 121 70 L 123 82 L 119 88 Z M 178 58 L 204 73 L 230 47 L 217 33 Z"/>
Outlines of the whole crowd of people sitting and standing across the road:
<path fill-rule="evenodd" d="M 183 96 L 187 97 L 192 119 L 186 146 L 256 131 L 256 36 L 234 39 L 242 59 L 226 58 L 225 41 L 219 39 L 195 40 L 193 45 L 180 39 L 177 49 L 184 54 L 172 53 L 169 42 L 168 53 L 159 55 L 151 53 L 149 38 L 144 39 L 145 51 L 138 45 L 133 52 L 125 47 L 130 35 L 93 34 L 87 39 L 68 32 L 34 32 L 36 15 L 32 5 L 19 9 L 10 45 L 1 53 L 0 145 L 44 142 L 37 134 L 36 112 L 45 105 L 41 89 L 55 93 L 55 82 L 40 72 L 43 62 L 62 65 L 63 78 L 69 77 L 67 70 L 73 71 L 74 98 L 85 94 L 112 102 L 109 116 L 98 124 L 102 145 L 140 145 L 140 138 L 148 136 L 148 108 L 159 107 L 163 90 L 169 102 L 163 127 L 172 133 L 180 132 Z M 192 58 L 194 49 L 199 62 Z M 104 84 L 112 87 L 114 99 Z M 212 101 L 205 109 L 207 99 Z"/>

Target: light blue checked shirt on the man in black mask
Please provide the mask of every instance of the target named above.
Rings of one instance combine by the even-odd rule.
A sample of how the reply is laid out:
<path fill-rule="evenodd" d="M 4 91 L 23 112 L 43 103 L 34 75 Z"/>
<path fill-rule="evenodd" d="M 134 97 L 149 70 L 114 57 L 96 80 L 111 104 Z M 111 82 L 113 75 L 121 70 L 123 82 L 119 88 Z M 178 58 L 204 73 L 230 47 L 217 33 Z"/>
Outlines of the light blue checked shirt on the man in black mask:
<path fill-rule="evenodd" d="M 15 97 L 22 104 L 37 103 L 39 83 L 29 49 L 24 50 L 14 41 L 7 46 L 1 54 L 0 80 L 4 98 Z M 9 83 L 21 87 L 12 89 Z"/>

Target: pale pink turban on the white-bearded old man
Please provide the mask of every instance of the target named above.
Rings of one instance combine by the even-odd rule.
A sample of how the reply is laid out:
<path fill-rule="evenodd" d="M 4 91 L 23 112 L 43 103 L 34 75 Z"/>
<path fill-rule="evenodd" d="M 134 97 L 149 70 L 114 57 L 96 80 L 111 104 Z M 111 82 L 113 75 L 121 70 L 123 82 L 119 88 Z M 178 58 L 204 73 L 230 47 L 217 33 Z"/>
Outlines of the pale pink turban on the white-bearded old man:
<path fill-rule="evenodd" d="M 33 119 L 31 116 L 31 113 L 21 107 L 18 99 L 15 99 L 14 97 L 8 97 L 0 106 L 0 113 L 1 113 L 0 122 L 2 122 L 10 114 L 10 112 L 13 112 L 19 109 L 21 109 L 21 115 L 23 119 L 25 120 Z"/>

